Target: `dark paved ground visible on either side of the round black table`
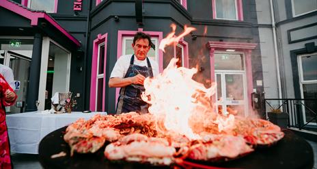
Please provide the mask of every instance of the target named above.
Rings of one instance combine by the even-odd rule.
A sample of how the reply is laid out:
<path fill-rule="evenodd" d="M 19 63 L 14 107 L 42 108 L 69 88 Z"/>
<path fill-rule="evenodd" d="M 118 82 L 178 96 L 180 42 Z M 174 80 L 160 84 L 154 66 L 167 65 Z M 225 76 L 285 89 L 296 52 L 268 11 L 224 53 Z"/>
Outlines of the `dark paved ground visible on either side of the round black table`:
<path fill-rule="evenodd" d="M 314 149 L 314 169 L 317 169 L 317 143 L 309 142 Z M 12 153 L 12 162 L 14 169 L 42 169 L 40 162 L 38 161 L 38 155 Z"/>

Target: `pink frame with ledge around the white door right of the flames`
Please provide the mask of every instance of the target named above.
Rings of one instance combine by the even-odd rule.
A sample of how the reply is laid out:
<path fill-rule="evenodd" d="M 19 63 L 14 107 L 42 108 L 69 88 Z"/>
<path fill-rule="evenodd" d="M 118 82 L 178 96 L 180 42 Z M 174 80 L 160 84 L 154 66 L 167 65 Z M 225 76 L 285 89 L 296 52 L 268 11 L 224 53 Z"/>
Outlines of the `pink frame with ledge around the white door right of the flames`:
<path fill-rule="evenodd" d="M 249 112 L 252 111 L 251 104 L 251 93 L 253 92 L 253 76 L 252 76 L 252 64 L 251 64 L 251 53 L 252 49 L 255 49 L 256 43 L 247 42 L 217 42 L 209 41 L 207 47 L 209 49 L 210 57 L 210 80 L 215 81 L 215 51 L 225 51 L 226 49 L 234 49 L 245 54 L 245 74 L 247 77 L 247 103 Z M 212 96 L 212 101 L 216 101 L 215 95 Z"/>

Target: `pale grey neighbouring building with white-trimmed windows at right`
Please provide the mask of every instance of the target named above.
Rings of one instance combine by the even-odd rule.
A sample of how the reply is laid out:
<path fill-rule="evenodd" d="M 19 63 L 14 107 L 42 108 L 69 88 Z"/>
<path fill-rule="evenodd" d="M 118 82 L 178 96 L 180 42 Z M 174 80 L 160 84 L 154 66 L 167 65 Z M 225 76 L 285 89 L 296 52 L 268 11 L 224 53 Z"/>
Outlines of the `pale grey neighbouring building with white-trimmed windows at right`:
<path fill-rule="evenodd" d="M 317 112 L 317 1 L 257 0 L 256 5 L 265 97 L 313 99 L 301 101 L 309 109 L 299 106 L 299 116 L 289 112 L 290 125 L 296 118 L 307 124 Z M 307 126 L 316 127 L 316 121 Z"/>

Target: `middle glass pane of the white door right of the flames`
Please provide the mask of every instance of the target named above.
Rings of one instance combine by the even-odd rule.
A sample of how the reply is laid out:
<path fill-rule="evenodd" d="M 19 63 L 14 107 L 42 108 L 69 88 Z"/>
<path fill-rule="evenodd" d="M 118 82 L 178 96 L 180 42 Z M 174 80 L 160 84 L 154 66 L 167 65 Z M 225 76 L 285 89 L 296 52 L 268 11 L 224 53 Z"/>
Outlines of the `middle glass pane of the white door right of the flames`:
<path fill-rule="evenodd" d="M 243 100 L 243 75 L 225 75 L 227 100 Z"/>

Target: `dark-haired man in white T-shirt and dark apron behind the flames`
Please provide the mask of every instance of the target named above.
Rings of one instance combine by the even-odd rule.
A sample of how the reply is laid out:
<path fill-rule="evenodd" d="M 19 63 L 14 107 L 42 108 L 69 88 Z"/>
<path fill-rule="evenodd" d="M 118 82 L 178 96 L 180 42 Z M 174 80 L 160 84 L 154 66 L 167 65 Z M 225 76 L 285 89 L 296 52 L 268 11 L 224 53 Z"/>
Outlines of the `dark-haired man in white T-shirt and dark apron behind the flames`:
<path fill-rule="evenodd" d="M 148 103 L 142 101 L 143 81 L 146 77 L 158 75 L 158 64 L 147 57 L 153 46 L 148 34 L 137 32 L 133 38 L 133 55 L 122 55 L 112 70 L 110 88 L 121 88 L 116 114 L 127 112 L 148 112 Z"/>

